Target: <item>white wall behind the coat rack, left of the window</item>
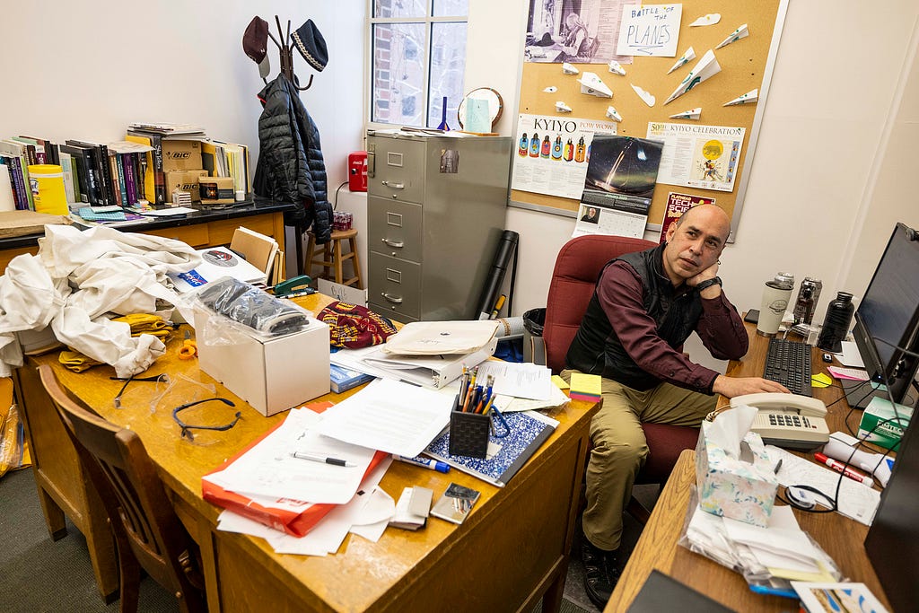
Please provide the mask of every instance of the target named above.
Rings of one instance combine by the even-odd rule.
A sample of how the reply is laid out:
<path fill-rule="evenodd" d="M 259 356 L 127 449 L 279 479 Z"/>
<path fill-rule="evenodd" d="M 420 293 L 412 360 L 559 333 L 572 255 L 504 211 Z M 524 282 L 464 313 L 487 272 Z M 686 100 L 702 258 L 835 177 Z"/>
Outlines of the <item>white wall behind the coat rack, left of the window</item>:
<path fill-rule="evenodd" d="M 208 135 L 258 153 L 256 94 L 265 85 L 243 52 L 256 14 L 278 37 L 306 19 L 323 33 L 329 62 L 315 73 L 294 51 L 301 94 L 323 143 L 329 198 L 346 180 L 347 153 L 362 147 L 366 0 L 4 2 L 0 138 L 116 141 L 131 121 L 197 123 Z M 273 78 L 278 49 L 268 42 Z"/>

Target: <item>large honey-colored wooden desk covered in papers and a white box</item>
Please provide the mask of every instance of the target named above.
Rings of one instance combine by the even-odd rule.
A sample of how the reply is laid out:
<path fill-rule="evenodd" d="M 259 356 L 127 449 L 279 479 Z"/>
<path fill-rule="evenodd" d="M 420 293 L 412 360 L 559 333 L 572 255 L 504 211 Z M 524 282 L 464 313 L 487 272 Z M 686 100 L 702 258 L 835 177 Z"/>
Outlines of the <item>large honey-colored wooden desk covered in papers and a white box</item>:
<path fill-rule="evenodd" d="M 310 310 L 320 305 L 316 296 L 298 301 Z M 171 340 L 166 356 L 149 372 L 182 371 L 212 382 L 199 371 L 197 360 L 176 358 L 181 344 L 178 338 Z M 75 455 L 69 464 L 64 460 L 74 450 L 35 371 L 38 364 L 56 364 L 56 358 L 56 354 L 30 358 L 27 367 L 17 371 L 28 395 L 23 413 L 28 414 L 36 481 L 46 517 L 50 507 L 52 518 L 62 512 L 72 518 L 92 516 L 98 510 L 95 493 L 87 492 Z M 143 406 L 115 409 L 112 401 L 121 383 L 108 380 L 111 368 L 96 367 L 82 374 L 59 366 L 55 370 L 65 388 L 106 419 L 130 426 L 141 436 L 161 469 L 179 517 L 201 547 L 211 611 L 530 611 L 540 597 L 545 610 L 558 610 L 561 605 L 588 426 L 596 405 L 573 402 L 553 415 L 560 422 L 555 433 L 504 488 L 455 470 L 441 474 L 394 463 L 381 483 L 393 498 L 409 485 L 431 488 L 439 496 L 449 482 L 479 490 L 482 497 L 461 526 L 431 518 L 417 532 L 390 528 L 377 543 L 349 537 L 336 555 L 314 558 L 277 555 L 262 539 L 218 532 L 221 509 L 201 498 L 201 476 L 285 414 L 263 417 L 217 384 L 222 396 L 238 401 L 243 419 L 216 437 L 214 444 L 194 445 L 178 436 L 171 411 L 151 414 Z M 329 394 L 322 399 L 340 398 Z M 202 406 L 210 410 L 210 405 Z M 223 408 L 223 412 L 219 406 L 214 408 L 214 423 L 226 416 Z M 102 538 L 87 540 L 92 547 Z"/>

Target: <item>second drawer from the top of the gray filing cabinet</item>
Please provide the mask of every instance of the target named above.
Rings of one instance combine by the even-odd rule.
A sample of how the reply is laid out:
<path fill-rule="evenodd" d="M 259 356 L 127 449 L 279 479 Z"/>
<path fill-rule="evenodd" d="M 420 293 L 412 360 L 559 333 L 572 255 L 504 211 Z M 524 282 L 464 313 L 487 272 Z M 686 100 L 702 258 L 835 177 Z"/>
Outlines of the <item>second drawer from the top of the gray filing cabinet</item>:
<path fill-rule="evenodd" d="M 369 197 L 368 248 L 403 260 L 421 261 L 421 205 Z"/>

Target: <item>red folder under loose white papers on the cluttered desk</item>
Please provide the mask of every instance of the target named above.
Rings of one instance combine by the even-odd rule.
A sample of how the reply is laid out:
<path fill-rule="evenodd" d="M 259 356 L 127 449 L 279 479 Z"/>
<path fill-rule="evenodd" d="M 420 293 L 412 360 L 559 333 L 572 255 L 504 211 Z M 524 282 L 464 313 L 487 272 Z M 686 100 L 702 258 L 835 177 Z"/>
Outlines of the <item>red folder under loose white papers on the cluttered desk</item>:
<path fill-rule="evenodd" d="M 322 413 L 325 409 L 329 408 L 333 404 L 335 403 L 324 401 L 321 403 L 308 404 L 307 407 L 316 413 Z M 257 445 L 263 438 L 274 432 L 275 429 L 281 426 L 282 423 L 283 422 L 278 422 L 278 426 L 271 428 L 261 437 L 256 438 L 248 447 L 237 453 L 230 460 L 223 462 L 219 468 L 209 472 L 208 474 L 219 472 L 225 469 L 227 466 L 240 458 L 246 451 L 255 447 L 255 445 Z M 387 456 L 388 454 L 383 453 L 382 451 L 377 451 L 373 455 L 373 458 L 370 460 L 370 465 L 367 467 L 367 471 L 364 473 L 364 477 L 366 478 L 367 475 L 373 471 L 373 469 L 380 465 L 382 460 L 386 459 Z M 295 537 L 305 536 L 307 532 L 312 530 L 312 528 L 314 528 L 323 517 L 325 517 L 332 509 L 334 509 L 335 506 L 337 506 L 331 504 L 309 505 L 300 513 L 284 511 L 277 508 L 269 508 L 267 506 L 259 505 L 244 494 L 237 494 L 235 492 L 224 490 L 221 486 L 215 485 L 214 483 L 211 483 L 203 478 L 201 479 L 201 496 L 214 505 L 221 506 L 222 508 L 225 508 L 229 511 L 233 511 L 233 513 L 238 513 L 243 517 L 248 517 L 249 519 L 257 521 L 260 524 L 265 524 L 270 528 L 283 530 L 289 535 Z"/>

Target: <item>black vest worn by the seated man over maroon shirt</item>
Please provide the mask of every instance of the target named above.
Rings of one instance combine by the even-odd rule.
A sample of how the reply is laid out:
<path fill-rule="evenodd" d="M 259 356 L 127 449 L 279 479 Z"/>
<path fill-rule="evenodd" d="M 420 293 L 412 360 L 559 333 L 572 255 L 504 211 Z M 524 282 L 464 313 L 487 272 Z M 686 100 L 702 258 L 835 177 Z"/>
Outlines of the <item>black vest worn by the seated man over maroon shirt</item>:
<path fill-rule="evenodd" d="M 664 245 L 661 244 L 612 259 L 607 262 L 604 270 L 616 261 L 626 262 L 635 269 L 644 289 L 644 309 L 656 322 L 657 334 L 667 345 L 679 351 L 686 338 L 696 329 L 702 315 L 702 301 L 698 291 L 686 285 L 674 288 L 670 279 L 664 275 L 663 254 Z M 600 275 L 602 277 L 603 273 Z M 600 306 L 596 289 L 584 312 L 581 327 L 568 349 L 565 363 L 569 369 L 602 375 L 633 390 L 650 390 L 661 382 L 642 370 L 626 353 L 613 326 L 609 324 L 607 313 Z"/>

